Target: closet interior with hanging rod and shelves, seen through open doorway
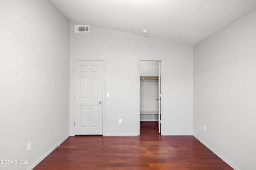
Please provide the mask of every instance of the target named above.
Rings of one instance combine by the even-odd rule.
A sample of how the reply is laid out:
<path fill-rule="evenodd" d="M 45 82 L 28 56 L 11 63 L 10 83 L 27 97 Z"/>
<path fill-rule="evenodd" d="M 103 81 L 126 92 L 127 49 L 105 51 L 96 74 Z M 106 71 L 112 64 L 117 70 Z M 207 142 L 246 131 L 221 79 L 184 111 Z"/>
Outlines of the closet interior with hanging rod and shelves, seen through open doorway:
<path fill-rule="evenodd" d="M 140 121 L 158 121 L 162 118 L 162 61 L 140 61 Z"/>

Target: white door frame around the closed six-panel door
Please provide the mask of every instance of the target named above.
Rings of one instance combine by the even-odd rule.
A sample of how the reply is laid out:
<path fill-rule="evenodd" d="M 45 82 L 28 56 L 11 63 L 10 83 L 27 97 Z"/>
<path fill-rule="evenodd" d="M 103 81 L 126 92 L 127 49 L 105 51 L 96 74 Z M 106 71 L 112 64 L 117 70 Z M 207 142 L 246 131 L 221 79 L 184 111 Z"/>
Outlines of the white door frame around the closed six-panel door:
<path fill-rule="evenodd" d="M 70 128 L 69 128 L 69 133 L 70 136 L 75 135 L 75 63 L 76 61 L 102 61 L 103 62 L 103 136 L 105 136 L 105 125 L 106 125 L 106 115 L 105 115 L 105 110 L 106 106 L 104 102 L 106 101 L 106 95 L 105 95 L 105 59 L 72 59 L 70 61 L 70 117 L 69 117 L 69 123 L 70 123 Z"/>

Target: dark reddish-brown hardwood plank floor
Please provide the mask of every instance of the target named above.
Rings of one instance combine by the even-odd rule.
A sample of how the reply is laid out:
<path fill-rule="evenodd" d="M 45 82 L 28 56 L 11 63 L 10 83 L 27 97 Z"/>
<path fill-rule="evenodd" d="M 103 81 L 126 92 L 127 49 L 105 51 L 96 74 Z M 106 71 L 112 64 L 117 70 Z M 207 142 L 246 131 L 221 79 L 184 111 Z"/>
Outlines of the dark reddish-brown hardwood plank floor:
<path fill-rule="evenodd" d="M 142 121 L 140 136 L 68 137 L 34 170 L 232 170 L 193 136 L 161 136 Z"/>

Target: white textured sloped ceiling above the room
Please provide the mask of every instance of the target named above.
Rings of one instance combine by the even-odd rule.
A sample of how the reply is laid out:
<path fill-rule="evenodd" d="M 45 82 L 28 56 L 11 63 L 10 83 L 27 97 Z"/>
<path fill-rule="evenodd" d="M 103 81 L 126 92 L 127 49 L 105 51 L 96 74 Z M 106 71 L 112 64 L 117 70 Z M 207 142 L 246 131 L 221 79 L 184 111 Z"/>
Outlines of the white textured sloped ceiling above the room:
<path fill-rule="evenodd" d="M 50 0 L 70 21 L 195 45 L 256 9 L 256 0 Z M 142 33 L 147 29 L 148 33 Z"/>

